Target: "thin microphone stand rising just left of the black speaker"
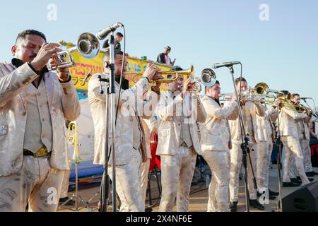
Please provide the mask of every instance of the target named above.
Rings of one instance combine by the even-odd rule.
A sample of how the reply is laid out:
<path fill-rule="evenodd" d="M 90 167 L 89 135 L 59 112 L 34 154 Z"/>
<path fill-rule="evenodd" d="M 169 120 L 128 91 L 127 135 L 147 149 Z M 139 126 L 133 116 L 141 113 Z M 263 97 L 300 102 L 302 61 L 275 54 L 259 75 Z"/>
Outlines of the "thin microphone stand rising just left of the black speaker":
<path fill-rule="evenodd" d="M 282 197 L 281 197 L 281 131 L 280 131 L 280 122 L 279 122 L 279 107 L 278 109 L 278 117 L 277 117 L 277 128 L 278 131 L 275 133 L 275 145 L 277 147 L 277 170 L 278 170 L 278 199 L 277 199 L 277 210 L 283 212 L 283 205 L 282 205 Z"/>

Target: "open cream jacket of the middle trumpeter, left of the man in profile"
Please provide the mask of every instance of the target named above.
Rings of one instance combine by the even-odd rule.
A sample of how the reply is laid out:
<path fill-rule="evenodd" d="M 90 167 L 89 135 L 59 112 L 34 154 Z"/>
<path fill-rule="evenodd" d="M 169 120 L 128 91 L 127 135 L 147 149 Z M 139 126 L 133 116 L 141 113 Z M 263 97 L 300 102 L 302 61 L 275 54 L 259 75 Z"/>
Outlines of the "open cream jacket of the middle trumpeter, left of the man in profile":
<path fill-rule="evenodd" d="M 176 155 L 179 151 L 180 129 L 182 126 L 181 109 L 182 102 L 184 106 L 189 106 L 190 97 L 185 95 L 182 99 L 181 95 L 173 98 L 172 92 L 167 91 L 160 95 L 158 103 L 158 146 L 156 155 Z M 189 123 L 190 134 L 192 138 L 193 148 L 196 153 L 201 154 L 199 133 L 196 121 L 204 122 L 206 120 L 206 112 L 199 98 L 197 105 L 192 105 L 191 114 L 192 123 Z M 189 111 L 187 107 L 184 107 Z"/>

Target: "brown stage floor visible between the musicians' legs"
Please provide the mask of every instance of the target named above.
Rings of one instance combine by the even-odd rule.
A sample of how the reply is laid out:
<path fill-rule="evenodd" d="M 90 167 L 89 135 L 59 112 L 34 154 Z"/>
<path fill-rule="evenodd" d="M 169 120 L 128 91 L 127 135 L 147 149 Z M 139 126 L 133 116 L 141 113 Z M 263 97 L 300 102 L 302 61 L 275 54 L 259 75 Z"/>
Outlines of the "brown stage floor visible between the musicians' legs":
<path fill-rule="evenodd" d="M 269 172 L 269 189 L 272 191 L 278 191 L 278 170 L 277 170 L 277 165 L 271 165 L 272 169 L 270 169 Z M 318 168 L 314 168 L 315 172 L 318 172 Z M 283 172 L 281 171 L 281 174 Z M 283 177 L 281 177 L 283 179 Z M 317 181 L 318 176 L 315 176 L 314 179 Z M 99 198 L 99 186 L 89 188 L 89 189 L 82 189 L 78 191 L 78 194 L 85 200 L 88 201 L 89 206 L 93 209 L 93 211 L 98 211 L 97 206 L 98 206 L 98 198 Z M 282 197 L 287 196 L 288 194 L 292 193 L 298 189 L 298 187 L 282 187 Z M 243 180 L 240 180 L 240 193 L 239 193 L 239 203 L 237 206 L 237 211 L 238 212 L 244 212 L 246 210 L 245 208 L 245 188 L 244 188 L 244 183 Z M 72 196 L 72 192 L 69 193 L 69 197 Z M 157 182 L 155 180 L 155 177 L 152 177 L 151 180 L 151 194 L 153 198 L 153 212 L 158 211 L 158 205 L 160 199 L 158 198 L 158 186 Z M 190 212 L 205 212 L 206 211 L 206 206 L 208 203 L 208 187 L 206 187 L 205 182 L 199 182 L 197 184 L 192 185 L 191 189 L 191 194 L 190 194 L 190 205 L 189 205 L 189 211 Z M 79 205 L 83 206 L 83 205 Z M 146 201 L 146 207 L 148 205 L 148 197 Z M 251 212 L 271 212 L 275 211 L 277 209 L 277 199 L 276 200 L 270 200 L 268 205 L 264 205 L 265 210 L 256 210 L 254 208 L 250 208 Z M 67 208 L 75 208 L 75 206 L 67 206 Z M 61 208 L 59 211 L 71 211 L 67 210 L 64 207 Z M 80 211 L 87 212 L 87 211 L 92 211 L 89 210 L 88 208 L 83 208 Z M 111 211 L 111 209 L 110 209 Z"/>

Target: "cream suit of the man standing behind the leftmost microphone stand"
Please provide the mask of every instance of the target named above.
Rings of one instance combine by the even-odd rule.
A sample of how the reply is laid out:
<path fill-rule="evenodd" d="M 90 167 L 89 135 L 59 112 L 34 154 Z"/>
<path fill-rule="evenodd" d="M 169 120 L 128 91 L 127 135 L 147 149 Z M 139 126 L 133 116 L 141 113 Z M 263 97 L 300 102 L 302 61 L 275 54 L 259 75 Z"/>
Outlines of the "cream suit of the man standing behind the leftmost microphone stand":
<path fill-rule="evenodd" d="M 102 78 L 108 77 L 105 73 L 102 73 L 101 76 Z M 105 91 L 107 90 L 106 83 L 102 83 L 102 88 Z M 122 90 L 120 96 L 114 152 L 116 157 L 117 194 L 122 202 L 120 210 L 123 212 L 142 212 L 145 209 L 141 191 L 141 162 L 146 162 L 147 153 L 146 147 L 139 148 L 138 150 L 134 148 L 134 121 L 139 120 L 137 119 L 139 114 L 143 115 L 143 112 L 138 112 L 140 109 L 148 109 L 148 105 L 144 105 L 142 99 L 143 93 L 145 93 L 148 88 L 148 80 L 141 78 L 132 88 Z M 119 84 L 117 82 L 115 82 L 115 89 L 114 102 L 115 105 L 117 105 L 119 98 Z M 157 97 L 156 94 L 154 95 Z M 90 78 L 88 83 L 88 100 L 95 130 L 94 164 L 104 165 L 106 95 L 100 94 L 98 74 Z M 156 106 L 153 106 L 153 109 L 155 109 L 155 107 Z M 108 109 L 110 109 L 110 107 L 108 107 Z M 148 117 L 151 117 L 151 111 L 146 113 L 148 113 Z M 108 125 L 110 125 L 110 121 Z M 109 133 L 111 134 L 111 131 L 109 131 Z M 143 145 L 142 142 L 141 145 Z M 108 162 L 110 175 L 112 175 L 111 162 L 112 155 Z"/>

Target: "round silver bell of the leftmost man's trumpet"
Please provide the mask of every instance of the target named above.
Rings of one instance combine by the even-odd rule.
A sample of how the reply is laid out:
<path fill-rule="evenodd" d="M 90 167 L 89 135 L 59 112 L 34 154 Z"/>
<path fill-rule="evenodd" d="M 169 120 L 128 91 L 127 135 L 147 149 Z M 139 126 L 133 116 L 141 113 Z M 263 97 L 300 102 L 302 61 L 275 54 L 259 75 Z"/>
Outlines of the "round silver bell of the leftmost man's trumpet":
<path fill-rule="evenodd" d="M 78 37 L 77 48 L 83 57 L 92 59 L 100 53 L 100 41 L 92 33 L 86 32 Z"/>

